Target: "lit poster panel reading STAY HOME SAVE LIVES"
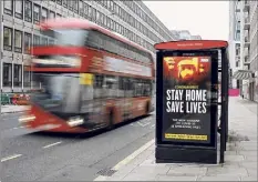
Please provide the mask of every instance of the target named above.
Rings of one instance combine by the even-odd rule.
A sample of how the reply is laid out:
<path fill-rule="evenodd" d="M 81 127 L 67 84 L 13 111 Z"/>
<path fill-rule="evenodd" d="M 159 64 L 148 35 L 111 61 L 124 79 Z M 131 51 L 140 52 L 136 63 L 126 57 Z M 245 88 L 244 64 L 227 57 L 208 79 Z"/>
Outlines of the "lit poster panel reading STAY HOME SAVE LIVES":
<path fill-rule="evenodd" d="M 210 57 L 163 57 L 163 141 L 210 142 Z"/>

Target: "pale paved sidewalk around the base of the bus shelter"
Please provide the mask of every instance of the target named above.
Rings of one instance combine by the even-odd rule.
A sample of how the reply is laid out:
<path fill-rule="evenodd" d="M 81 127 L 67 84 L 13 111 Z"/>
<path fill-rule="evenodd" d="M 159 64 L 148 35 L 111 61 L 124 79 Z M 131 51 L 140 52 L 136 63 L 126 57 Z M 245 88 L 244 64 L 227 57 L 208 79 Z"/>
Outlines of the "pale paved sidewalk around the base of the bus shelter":
<path fill-rule="evenodd" d="M 153 140 L 95 181 L 257 181 L 256 103 L 230 98 L 229 133 L 225 164 L 156 164 Z"/>

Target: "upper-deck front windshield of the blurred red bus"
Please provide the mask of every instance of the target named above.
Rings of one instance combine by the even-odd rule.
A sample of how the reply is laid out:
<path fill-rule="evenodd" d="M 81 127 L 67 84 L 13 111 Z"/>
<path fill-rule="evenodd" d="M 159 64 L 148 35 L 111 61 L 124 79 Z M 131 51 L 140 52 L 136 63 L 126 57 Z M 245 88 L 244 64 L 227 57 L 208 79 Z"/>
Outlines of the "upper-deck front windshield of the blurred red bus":
<path fill-rule="evenodd" d="M 45 37 L 52 38 L 49 46 L 82 47 L 89 31 L 82 29 L 48 29 L 41 31 Z"/>

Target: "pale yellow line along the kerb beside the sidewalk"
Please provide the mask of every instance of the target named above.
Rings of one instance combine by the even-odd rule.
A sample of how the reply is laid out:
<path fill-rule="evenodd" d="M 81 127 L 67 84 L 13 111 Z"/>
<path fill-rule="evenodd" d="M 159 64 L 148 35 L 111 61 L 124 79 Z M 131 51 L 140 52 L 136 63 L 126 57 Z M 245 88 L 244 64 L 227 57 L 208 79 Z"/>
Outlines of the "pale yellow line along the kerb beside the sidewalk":
<path fill-rule="evenodd" d="M 142 145 L 140 149 L 134 151 L 131 155 L 126 156 L 124 160 L 120 161 L 115 166 L 112 168 L 112 170 L 118 171 L 122 166 L 130 163 L 132 160 L 134 160 L 137 155 L 140 155 L 142 152 L 144 152 L 146 149 L 148 149 L 152 144 L 154 144 L 155 140 L 148 141 L 146 144 Z M 94 181 L 105 181 L 107 176 L 99 175 Z"/>

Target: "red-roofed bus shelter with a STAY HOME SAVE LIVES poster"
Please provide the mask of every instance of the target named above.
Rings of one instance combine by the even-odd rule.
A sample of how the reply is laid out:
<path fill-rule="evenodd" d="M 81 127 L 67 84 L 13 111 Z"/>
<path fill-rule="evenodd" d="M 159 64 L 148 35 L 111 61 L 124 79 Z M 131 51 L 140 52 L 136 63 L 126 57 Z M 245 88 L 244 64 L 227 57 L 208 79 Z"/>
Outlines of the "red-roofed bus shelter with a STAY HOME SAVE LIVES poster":
<path fill-rule="evenodd" d="M 156 162 L 224 163 L 228 43 L 184 40 L 157 43 L 155 49 Z"/>

